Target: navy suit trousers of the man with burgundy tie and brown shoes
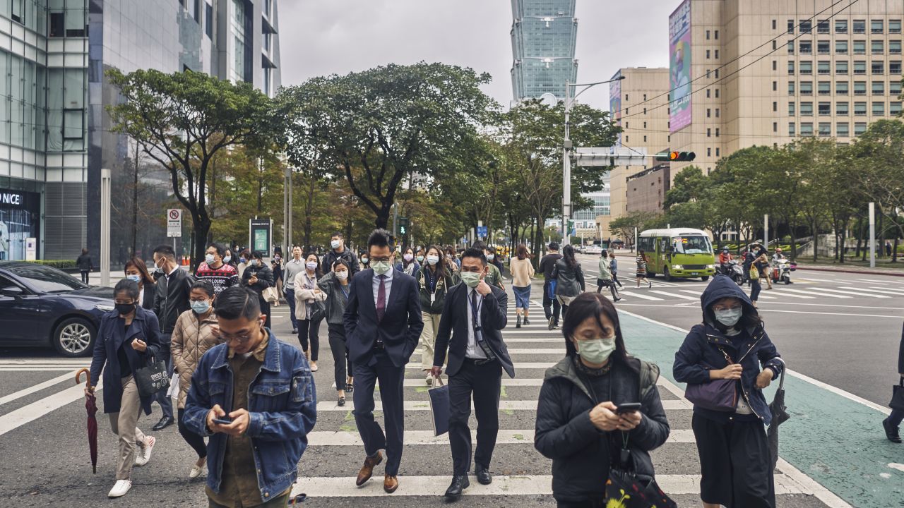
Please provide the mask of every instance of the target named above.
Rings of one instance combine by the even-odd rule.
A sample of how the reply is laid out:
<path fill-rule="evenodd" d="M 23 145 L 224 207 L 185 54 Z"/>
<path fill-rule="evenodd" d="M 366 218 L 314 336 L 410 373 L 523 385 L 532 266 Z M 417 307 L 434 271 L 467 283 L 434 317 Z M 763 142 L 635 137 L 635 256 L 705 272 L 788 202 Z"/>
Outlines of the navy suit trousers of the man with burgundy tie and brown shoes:
<path fill-rule="evenodd" d="M 405 434 L 405 400 L 402 390 L 405 366 L 396 367 L 384 350 L 374 350 L 368 363 L 354 362 L 354 423 L 364 442 L 364 452 L 373 456 L 386 450 L 386 475 L 398 475 Z M 380 381 L 380 399 L 386 434 L 373 419 L 373 388 Z"/>

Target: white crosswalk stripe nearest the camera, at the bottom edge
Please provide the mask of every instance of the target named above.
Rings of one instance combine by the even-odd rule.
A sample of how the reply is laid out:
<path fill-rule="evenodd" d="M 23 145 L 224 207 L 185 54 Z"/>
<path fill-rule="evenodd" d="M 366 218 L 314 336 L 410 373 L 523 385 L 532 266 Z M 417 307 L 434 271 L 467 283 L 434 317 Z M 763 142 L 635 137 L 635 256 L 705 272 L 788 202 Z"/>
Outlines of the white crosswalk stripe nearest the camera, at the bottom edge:
<path fill-rule="evenodd" d="M 399 489 L 392 497 L 404 496 L 440 496 L 446 492 L 450 475 L 445 476 L 406 476 L 399 475 Z M 552 494 L 551 475 L 494 475 L 493 483 L 478 484 L 471 478 L 471 486 L 464 492 L 470 495 L 544 495 Z M 656 475 L 656 483 L 670 495 L 700 494 L 700 475 Z M 776 494 L 813 494 L 795 479 L 785 474 L 775 475 Z M 386 496 L 379 477 L 355 486 L 355 477 L 307 477 L 298 478 L 292 488 L 292 495 L 306 494 L 308 498 L 317 497 L 374 497 Z"/>

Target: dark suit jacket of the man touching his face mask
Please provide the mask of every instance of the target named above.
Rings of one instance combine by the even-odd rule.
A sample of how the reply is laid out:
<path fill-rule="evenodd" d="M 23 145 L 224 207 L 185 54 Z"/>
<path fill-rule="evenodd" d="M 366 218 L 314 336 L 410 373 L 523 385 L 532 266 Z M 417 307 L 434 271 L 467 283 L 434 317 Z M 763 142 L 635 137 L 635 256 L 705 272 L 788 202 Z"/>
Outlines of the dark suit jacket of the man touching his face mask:
<path fill-rule="evenodd" d="M 513 378 L 514 366 L 502 334 L 502 329 L 508 323 L 508 317 L 505 314 L 508 307 L 508 296 L 498 287 L 490 286 L 490 289 L 493 293 L 484 297 L 484 303 L 480 307 L 481 333 L 485 343 L 489 344 L 496 358 L 502 363 L 505 373 Z M 456 375 L 461 369 L 462 362 L 465 361 L 467 330 L 471 325 L 467 318 L 467 306 L 469 305 L 467 286 L 463 282 L 458 283 L 449 289 L 446 304 L 443 306 L 443 315 L 439 318 L 433 364 L 442 365 L 446 361 L 446 372 L 450 376 Z M 446 359 L 447 348 L 448 359 Z"/>

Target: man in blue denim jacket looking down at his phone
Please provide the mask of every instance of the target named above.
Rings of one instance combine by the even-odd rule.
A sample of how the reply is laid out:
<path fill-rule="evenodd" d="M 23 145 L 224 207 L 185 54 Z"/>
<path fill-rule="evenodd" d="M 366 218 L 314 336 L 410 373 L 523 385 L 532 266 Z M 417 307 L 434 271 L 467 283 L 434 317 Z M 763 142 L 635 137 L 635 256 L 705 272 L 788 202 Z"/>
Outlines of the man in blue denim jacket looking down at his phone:
<path fill-rule="evenodd" d="M 314 378 L 305 355 L 264 328 L 256 293 L 224 289 L 216 315 L 224 343 L 198 363 L 184 418 L 210 436 L 210 506 L 286 506 L 316 420 Z"/>

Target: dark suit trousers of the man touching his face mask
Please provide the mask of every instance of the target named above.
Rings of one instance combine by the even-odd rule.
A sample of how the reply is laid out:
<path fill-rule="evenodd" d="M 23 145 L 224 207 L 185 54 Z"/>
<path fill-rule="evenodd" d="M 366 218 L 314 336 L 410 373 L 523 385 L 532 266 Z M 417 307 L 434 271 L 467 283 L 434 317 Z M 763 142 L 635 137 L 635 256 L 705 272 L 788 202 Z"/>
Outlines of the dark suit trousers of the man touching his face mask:
<path fill-rule="evenodd" d="M 477 417 L 477 448 L 474 461 L 490 467 L 496 435 L 499 433 L 499 393 L 503 382 L 500 362 L 475 365 L 465 359 L 461 369 L 449 376 L 449 446 L 452 447 L 452 474 L 466 475 L 471 469 L 471 394 Z"/>

